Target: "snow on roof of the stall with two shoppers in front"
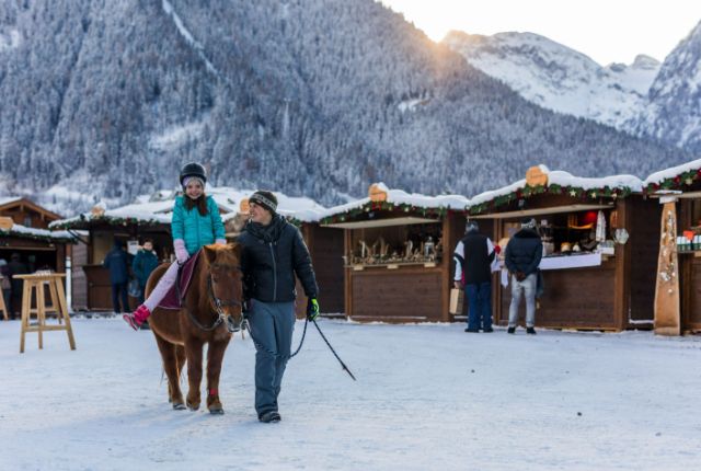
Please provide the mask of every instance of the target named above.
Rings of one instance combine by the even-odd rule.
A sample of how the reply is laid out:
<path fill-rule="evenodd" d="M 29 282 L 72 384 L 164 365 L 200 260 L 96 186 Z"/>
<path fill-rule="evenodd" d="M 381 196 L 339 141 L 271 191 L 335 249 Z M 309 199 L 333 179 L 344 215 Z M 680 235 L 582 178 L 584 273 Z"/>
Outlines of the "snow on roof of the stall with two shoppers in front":
<path fill-rule="evenodd" d="M 574 176 L 572 173 L 561 170 L 549 170 L 545 165 L 538 165 L 543 173 L 548 174 L 548 185 L 572 186 L 583 189 L 604 188 L 630 188 L 633 192 L 642 192 L 643 182 L 634 175 L 611 175 L 600 179 Z M 499 196 L 509 195 L 517 189 L 526 187 L 526 179 L 521 179 L 510 185 L 498 189 L 480 193 L 471 199 L 472 206 L 489 203 Z"/>

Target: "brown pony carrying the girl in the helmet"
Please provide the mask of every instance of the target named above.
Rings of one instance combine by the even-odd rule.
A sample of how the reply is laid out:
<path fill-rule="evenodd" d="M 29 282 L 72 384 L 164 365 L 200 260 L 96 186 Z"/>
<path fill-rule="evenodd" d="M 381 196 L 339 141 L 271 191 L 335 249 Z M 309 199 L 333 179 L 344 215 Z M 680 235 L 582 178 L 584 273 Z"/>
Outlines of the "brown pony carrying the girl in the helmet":
<path fill-rule="evenodd" d="M 157 308 L 149 318 L 158 348 L 168 376 L 169 402 L 173 409 L 185 409 L 180 390 L 180 374 L 187 363 L 187 407 L 199 409 L 199 384 L 203 374 L 203 347 L 207 349 L 207 409 L 212 414 L 223 414 L 219 401 L 219 375 L 223 353 L 231 334 L 227 317 L 240 324 L 242 318 L 243 275 L 241 272 L 241 245 L 206 245 L 194 267 L 189 288 L 181 310 Z M 157 267 L 146 286 L 147 296 L 168 269 L 168 264 Z"/>

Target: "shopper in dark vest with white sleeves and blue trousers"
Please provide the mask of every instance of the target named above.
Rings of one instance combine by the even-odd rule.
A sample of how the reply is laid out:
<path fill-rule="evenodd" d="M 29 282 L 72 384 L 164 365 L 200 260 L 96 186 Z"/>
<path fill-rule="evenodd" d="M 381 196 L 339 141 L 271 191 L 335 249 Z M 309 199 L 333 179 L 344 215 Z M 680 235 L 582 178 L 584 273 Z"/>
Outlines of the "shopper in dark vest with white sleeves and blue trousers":
<path fill-rule="evenodd" d="M 464 237 L 458 242 L 455 286 L 464 285 L 464 295 L 470 305 L 466 332 L 493 332 L 492 329 L 492 269 L 495 246 L 481 234 L 476 221 L 468 221 Z"/>

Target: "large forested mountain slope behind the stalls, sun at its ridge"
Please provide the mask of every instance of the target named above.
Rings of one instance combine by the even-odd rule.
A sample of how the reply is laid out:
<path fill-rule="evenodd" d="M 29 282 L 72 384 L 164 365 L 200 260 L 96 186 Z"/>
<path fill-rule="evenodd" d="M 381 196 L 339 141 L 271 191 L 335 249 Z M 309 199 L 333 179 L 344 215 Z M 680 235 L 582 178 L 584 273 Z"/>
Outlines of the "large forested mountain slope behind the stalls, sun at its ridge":
<path fill-rule="evenodd" d="M 326 205 L 691 160 L 524 100 L 374 0 L 9 0 L 0 45 L 0 188 L 66 216 L 192 160 Z"/>

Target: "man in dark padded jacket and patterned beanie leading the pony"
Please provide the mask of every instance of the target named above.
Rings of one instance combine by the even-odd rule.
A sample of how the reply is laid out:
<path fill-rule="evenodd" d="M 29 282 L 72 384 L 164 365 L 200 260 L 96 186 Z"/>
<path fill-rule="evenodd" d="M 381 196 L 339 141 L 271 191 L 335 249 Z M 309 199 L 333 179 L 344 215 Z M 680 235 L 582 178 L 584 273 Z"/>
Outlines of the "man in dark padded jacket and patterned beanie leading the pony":
<path fill-rule="evenodd" d="M 309 250 L 299 230 L 277 215 L 277 198 L 258 191 L 250 198 L 251 219 L 238 238 L 246 319 L 254 340 L 255 410 L 265 423 L 280 421 L 277 397 L 290 356 L 295 328 L 295 275 L 309 298 L 307 317 L 319 315 L 319 288 Z"/>

